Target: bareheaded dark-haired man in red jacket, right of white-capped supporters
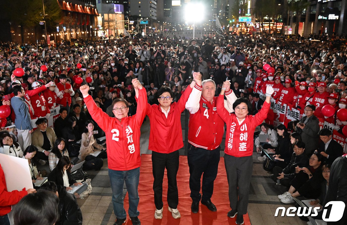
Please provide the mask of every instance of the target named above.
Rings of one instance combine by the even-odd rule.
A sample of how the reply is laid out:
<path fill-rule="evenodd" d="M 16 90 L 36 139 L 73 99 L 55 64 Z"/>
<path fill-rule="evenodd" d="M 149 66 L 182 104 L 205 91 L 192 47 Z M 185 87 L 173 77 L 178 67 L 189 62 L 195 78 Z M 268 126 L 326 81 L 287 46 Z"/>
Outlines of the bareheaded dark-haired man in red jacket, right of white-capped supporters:
<path fill-rule="evenodd" d="M 66 83 L 66 75 L 65 74 L 60 74 L 59 75 L 59 83 L 57 83 L 57 87 L 54 90 L 57 94 L 57 103 L 65 107 L 67 109 L 67 115 L 69 116 L 70 112 L 70 105 L 71 105 L 71 96 L 75 95 L 75 91 L 72 89 L 71 84 Z"/>

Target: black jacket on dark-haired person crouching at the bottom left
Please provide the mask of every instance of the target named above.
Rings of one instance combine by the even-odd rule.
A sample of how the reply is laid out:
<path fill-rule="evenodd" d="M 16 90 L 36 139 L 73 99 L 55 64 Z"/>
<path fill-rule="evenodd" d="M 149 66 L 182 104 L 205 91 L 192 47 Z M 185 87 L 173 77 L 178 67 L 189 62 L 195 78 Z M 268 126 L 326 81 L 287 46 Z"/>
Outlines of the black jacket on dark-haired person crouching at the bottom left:
<path fill-rule="evenodd" d="M 82 212 L 76 197 L 68 193 L 61 185 L 57 185 L 59 195 L 60 218 L 56 225 L 82 225 Z"/>

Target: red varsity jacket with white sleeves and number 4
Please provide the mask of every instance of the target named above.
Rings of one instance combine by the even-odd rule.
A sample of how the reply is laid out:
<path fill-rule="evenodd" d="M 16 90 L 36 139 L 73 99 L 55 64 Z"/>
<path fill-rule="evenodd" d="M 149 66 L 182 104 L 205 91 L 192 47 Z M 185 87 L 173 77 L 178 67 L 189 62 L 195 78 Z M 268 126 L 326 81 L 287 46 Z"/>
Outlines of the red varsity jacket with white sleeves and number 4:
<path fill-rule="evenodd" d="M 212 102 L 201 96 L 202 87 L 195 85 L 186 103 L 189 110 L 188 142 L 195 147 L 214 150 L 219 147 L 224 134 L 224 121 L 217 112 L 217 99 Z M 224 107 L 234 112 L 232 103 L 237 99 L 232 90 L 225 93 Z M 229 104 L 230 102 L 230 104 Z"/>

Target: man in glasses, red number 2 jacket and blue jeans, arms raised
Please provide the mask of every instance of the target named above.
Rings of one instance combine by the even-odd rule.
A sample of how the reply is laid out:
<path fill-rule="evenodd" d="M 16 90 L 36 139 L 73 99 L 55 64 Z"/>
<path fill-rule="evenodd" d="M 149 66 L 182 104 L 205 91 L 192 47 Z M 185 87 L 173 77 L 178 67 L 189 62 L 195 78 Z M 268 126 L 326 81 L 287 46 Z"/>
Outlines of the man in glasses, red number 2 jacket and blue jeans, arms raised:
<path fill-rule="evenodd" d="M 129 216 L 133 224 L 140 224 L 137 210 L 138 182 L 140 175 L 140 128 L 146 116 L 147 93 L 137 79 L 132 80 L 137 109 L 134 116 L 128 117 L 128 103 L 122 99 L 112 102 L 115 117 L 109 117 L 96 106 L 88 94 L 88 85 L 79 89 L 83 95 L 88 112 L 106 134 L 107 160 L 112 188 L 113 211 L 117 216 L 116 223 L 125 223 L 127 214 L 123 205 L 123 185 L 126 184 L 129 195 Z"/>

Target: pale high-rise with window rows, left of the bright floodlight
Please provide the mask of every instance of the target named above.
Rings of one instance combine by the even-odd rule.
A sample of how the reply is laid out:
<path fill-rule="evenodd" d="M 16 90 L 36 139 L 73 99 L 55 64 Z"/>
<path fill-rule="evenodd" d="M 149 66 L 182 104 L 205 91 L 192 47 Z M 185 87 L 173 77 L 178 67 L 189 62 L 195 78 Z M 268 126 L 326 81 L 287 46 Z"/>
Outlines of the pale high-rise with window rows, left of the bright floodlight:
<path fill-rule="evenodd" d="M 162 1 L 162 0 L 161 0 Z M 162 4 L 162 3 L 161 3 Z M 142 18 L 157 19 L 157 1 L 156 0 L 130 0 L 130 15 L 136 15 Z"/>

